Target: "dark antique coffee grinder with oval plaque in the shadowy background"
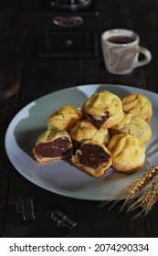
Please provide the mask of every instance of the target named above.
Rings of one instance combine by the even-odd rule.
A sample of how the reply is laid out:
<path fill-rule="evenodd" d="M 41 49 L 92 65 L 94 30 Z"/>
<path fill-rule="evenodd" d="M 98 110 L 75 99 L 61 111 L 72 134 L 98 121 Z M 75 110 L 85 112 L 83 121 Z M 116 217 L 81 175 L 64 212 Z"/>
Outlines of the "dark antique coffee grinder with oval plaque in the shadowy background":
<path fill-rule="evenodd" d="M 96 0 L 43 1 L 37 16 L 43 33 L 39 57 L 94 58 L 98 55 Z"/>

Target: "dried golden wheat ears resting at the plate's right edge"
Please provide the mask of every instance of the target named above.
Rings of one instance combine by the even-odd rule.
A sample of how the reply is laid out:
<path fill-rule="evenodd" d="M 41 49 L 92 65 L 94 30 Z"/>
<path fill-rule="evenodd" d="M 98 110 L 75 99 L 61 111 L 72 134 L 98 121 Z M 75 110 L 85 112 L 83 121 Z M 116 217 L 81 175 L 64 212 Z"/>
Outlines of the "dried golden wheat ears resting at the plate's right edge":
<path fill-rule="evenodd" d="M 146 215 L 158 201 L 158 166 L 153 166 L 145 171 L 134 179 L 128 187 L 124 188 L 121 193 L 113 197 L 111 208 L 122 199 L 124 202 L 120 211 L 126 208 L 127 212 L 131 212 L 140 208 L 137 216 Z M 110 202 L 101 202 L 100 207 L 104 207 L 107 203 Z"/>

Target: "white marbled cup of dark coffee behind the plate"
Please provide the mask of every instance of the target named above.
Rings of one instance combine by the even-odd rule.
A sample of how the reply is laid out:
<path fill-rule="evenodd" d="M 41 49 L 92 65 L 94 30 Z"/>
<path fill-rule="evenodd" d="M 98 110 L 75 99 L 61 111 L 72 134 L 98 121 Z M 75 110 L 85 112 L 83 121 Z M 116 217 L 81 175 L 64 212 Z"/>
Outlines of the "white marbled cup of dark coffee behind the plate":
<path fill-rule="evenodd" d="M 140 37 L 129 29 L 115 28 L 101 35 L 101 47 L 106 69 L 112 74 L 125 75 L 148 64 L 152 54 L 139 46 Z M 143 59 L 139 60 L 142 53 Z"/>

